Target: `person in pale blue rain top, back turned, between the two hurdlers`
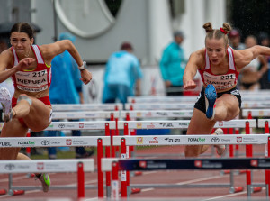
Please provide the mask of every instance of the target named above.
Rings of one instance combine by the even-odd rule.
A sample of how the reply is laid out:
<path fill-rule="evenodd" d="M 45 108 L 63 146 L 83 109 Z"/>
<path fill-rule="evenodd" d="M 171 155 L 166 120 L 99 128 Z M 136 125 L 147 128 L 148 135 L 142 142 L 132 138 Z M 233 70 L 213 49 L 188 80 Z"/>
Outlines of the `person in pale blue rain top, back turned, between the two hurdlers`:
<path fill-rule="evenodd" d="M 120 49 L 112 53 L 106 64 L 103 103 L 115 103 L 116 99 L 119 99 L 124 105 L 128 96 L 141 95 L 142 72 L 139 59 L 132 54 L 133 47 L 130 42 L 123 42 Z"/>

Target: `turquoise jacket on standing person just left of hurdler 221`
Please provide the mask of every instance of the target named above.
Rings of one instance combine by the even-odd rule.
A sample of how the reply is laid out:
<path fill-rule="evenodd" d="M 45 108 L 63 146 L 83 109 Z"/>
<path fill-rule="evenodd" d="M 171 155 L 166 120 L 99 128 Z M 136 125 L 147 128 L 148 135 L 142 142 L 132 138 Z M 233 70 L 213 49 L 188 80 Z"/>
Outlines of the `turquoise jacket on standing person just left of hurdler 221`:
<path fill-rule="evenodd" d="M 175 41 L 163 51 L 159 66 L 165 81 L 171 81 L 173 86 L 183 86 L 184 50 Z"/>

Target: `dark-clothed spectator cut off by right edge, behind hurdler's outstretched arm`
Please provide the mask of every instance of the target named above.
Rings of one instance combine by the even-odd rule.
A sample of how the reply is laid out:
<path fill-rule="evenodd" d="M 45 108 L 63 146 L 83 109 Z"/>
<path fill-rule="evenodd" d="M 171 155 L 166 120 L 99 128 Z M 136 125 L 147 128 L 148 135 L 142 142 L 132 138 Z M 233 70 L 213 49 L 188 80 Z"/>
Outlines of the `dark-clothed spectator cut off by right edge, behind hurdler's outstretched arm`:
<path fill-rule="evenodd" d="M 258 44 L 262 46 L 269 47 L 270 46 L 270 40 L 269 35 L 266 32 L 259 32 L 258 34 Z M 265 56 L 267 60 L 267 67 L 268 69 L 264 73 L 263 77 L 260 78 L 259 83 L 261 85 L 261 89 L 270 89 L 270 57 Z"/>

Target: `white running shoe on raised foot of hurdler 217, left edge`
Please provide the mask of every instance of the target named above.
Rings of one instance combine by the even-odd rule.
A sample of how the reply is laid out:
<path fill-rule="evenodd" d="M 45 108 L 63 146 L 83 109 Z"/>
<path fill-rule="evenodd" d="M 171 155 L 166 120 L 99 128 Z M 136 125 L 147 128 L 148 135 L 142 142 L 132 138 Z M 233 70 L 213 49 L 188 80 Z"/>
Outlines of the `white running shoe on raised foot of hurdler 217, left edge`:
<path fill-rule="evenodd" d="M 12 97 L 9 90 L 6 87 L 0 88 L 0 103 L 3 108 L 2 118 L 5 123 L 9 122 L 12 119 Z"/>

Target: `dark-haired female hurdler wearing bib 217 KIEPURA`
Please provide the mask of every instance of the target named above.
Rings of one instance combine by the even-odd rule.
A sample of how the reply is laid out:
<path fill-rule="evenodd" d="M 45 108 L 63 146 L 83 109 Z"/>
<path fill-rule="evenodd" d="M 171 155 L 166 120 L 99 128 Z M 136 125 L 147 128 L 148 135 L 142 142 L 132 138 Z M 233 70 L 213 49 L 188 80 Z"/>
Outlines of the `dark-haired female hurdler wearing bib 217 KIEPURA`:
<path fill-rule="evenodd" d="M 55 56 L 68 50 L 76 60 L 85 84 L 90 82 L 92 74 L 85 69 L 85 62 L 69 40 L 33 45 L 33 31 L 28 23 L 15 23 L 10 34 L 12 47 L 0 54 L 0 82 L 12 77 L 15 92 L 11 97 L 6 88 L 0 88 L 5 122 L 1 137 L 25 137 L 29 129 L 39 132 L 51 122 L 50 62 Z M 0 148 L 0 160 L 30 160 L 19 151 L 20 148 Z M 49 176 L 36 176 L 42 183 L 43 191 L 47 192 Z"/>

